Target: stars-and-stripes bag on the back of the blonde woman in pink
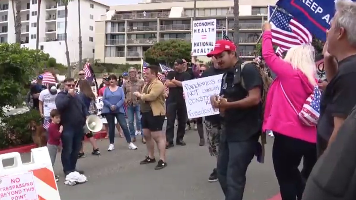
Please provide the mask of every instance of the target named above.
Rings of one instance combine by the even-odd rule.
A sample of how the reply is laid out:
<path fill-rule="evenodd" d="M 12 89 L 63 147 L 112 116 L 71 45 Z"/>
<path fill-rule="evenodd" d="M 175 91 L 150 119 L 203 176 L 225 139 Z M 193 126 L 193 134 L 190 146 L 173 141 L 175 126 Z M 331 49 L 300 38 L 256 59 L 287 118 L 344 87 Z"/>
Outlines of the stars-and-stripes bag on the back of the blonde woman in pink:
<path fill-rule="evenodd" d="M 320 113 L 321 92 L 318 86 L 314 87 L 313 93 L 305 101 L 302 111 L 299 112 L 299 119 L 308 126 L 316 126 Z"/>

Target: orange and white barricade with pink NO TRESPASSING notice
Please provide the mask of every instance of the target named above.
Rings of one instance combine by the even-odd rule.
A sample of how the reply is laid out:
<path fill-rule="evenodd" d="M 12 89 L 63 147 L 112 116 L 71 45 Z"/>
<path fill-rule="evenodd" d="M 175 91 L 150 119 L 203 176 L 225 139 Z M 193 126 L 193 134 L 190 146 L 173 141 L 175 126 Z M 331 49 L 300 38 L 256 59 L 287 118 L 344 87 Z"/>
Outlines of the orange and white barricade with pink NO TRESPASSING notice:
<path fill-rule="evenodd" d="M 4 167 L 2 160 L 14 158 Z M 20 153 L 0 155 L 0 200 L 61 200 L 47 147 L 31 149 L 31 162 Z"/>

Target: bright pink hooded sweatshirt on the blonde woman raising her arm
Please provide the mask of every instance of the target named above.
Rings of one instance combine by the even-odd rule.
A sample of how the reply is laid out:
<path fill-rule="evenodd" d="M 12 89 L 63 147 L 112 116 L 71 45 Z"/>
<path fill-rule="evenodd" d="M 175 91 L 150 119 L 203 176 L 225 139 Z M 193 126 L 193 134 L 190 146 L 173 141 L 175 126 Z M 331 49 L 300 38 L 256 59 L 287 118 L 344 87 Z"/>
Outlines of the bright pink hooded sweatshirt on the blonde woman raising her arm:
<path fill-rule="evenodd" d="M 263 117 L 263 131 L 272 130 L 288 137 L 316 143 L 316 127 L 304 125 L 283 94 L 282 86 L 290 102 L 299 112 L 314 86 L 299 69 L 274 54 L 272 33 L 265 31 L 262 41 L 262 56 L 277 77 L 269 88 Z M 282 85 L 282 86 L 281 86 Z"/>

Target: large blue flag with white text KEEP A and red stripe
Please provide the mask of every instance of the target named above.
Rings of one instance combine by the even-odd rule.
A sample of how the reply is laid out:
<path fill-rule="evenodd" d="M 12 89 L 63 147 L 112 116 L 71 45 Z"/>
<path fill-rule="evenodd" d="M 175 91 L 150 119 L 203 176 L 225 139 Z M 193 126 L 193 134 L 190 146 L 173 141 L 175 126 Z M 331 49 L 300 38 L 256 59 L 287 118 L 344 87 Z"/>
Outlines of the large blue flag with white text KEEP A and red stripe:
<path fill-rule="evenodd" d="M 312 35 L 326 41 L 326 30 L 330 28 L 337 0 L 279 0 L 277 6 L 289 12 Z M 352 0 L 356 1 L 356 0 Z"/>

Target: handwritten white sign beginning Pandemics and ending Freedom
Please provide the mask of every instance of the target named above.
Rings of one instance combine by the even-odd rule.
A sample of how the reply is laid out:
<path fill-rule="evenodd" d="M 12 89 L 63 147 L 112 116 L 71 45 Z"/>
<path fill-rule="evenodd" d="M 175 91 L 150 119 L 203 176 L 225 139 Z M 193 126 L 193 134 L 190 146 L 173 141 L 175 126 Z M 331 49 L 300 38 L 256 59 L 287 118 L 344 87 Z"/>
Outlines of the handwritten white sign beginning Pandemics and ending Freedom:
<path fill-rule="evenodd" d="M 219 114 L 211 106 L 210 96 L 220 94 L 221 78 L 223 74 L 182 82 L 189 119 Z"/>

